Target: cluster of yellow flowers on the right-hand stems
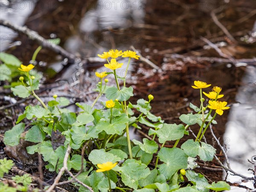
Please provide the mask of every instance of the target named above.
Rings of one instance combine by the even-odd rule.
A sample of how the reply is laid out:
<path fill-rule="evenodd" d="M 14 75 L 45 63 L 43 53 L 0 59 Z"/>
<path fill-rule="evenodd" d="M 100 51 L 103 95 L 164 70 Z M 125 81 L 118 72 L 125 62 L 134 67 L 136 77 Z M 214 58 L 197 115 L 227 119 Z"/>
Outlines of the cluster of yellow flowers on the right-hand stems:
<path fill-rule="evenodd" d="M 194 89 L 204 89 L 211 86 L 211 84 L 207 84 L 206 82 L 203 82 L 203 81 L 194 81 L 194 84 L 195 85 L 192 85 Z M 230 108 L 230 107 L 226 107 L 227 102 L 215 101 L 224 96 L 224 95 L 219 95 L 221 90 L 222 90 L 221 87 L 215 86 L 212 88 L 211 92 L 209 93 L 203 92 L 205 96 L 207 96 L 209 99 L 212 99 L 212 100 L 209 100 L 208 108 L 216 110 L 216 113 L 219 115 L 223 114 L 223 110 Z"/>

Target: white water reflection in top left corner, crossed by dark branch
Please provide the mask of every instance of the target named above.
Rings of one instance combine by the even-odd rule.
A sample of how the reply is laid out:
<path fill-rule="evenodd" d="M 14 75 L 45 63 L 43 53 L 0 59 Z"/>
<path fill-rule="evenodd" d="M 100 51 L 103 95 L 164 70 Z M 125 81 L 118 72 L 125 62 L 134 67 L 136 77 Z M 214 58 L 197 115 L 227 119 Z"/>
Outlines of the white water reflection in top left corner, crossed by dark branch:
<path fill-rule="evenodd" d="M 26 19 L 33 12 L 37 0 L 0 0 L 0 19 L 8 20 L 11 23 L 23 26 Z M 17 38 L 17 33 L 12 29 L 0 26 L 0 52 L 16 45 L 20 45 L 20 41 L 12 44 Z"/>

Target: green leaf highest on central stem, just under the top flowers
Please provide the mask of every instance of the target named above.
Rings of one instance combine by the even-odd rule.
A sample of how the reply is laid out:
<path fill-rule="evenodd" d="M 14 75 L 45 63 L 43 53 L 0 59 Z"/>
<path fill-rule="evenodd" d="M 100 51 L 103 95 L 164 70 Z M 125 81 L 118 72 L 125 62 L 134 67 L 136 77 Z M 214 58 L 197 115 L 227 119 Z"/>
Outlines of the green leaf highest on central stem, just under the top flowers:
<path fill-rule="evenodd" d="M 110 87 L 106 90 L 106 97 L 109 100 L 127 101 L 131 96 L 133 96 L 132 87 L 122 87 L 121 90 L 118 90 L 116 87 Z"/>

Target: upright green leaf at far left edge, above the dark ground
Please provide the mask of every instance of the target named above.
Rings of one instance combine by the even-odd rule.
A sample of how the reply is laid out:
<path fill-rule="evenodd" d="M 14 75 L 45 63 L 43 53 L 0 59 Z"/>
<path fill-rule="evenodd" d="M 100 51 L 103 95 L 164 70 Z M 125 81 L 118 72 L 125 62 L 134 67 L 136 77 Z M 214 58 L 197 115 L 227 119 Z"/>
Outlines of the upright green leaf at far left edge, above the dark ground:
<path fill-rule="evenodd" d="M 3 143 L 9 146 L 16 146 L 20 143 L 20 135 L 25 129 L 25 123 L 15 125 L 11 130 L 4 134 Z"/>

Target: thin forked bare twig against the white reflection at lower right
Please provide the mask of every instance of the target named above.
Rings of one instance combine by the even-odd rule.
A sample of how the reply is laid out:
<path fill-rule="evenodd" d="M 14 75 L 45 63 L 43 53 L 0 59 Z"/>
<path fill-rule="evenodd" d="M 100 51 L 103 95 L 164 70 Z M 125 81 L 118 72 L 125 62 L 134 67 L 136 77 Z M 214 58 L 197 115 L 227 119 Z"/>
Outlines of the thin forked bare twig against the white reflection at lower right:
<path fill-rule="evenodd" d="M 215 134 L 213 133 L 212 131 L 212 126 L 210 125 L 210 130 L 211 130 L 211 134 L 212 134 L 212 137 L 215 139 L 216 143 L 218 144 L 218 146 L 221 148 L 221 151 L 223 152 L 225 158 L 226 158 L 226 162 L 227 162 L 227 166 L 224 166 L 223 163 L 221 163 L 221 161 L 218 159 L 218 157 L 216 155 L 214 155 L 215 159 L 218 161 L 218 163 L 220 164 L 221 167 L 223 167 L 223 169 L 229 171 L 230 173 L 232 173 L 233 175 L 236 175 L 236 176 L 239 176 L 239 177 L 242 177 L 244 179 L 247 179 L 247 180 L 254 180 L 256 181 L 256 178 L 255 177 L 246 177 L 244 175 L 241 175 L 235 171 L 233 171 L 233 169 L 230 168 L 230 164 L 229 164 L 229 160 L 228 160 L 228 157 L 227 157 L 227 153 L 226 151 L 224 150 L 223 146 L 220 144 L 219 140 L 217 139 L 217 137 L 215 136 Z"/>

